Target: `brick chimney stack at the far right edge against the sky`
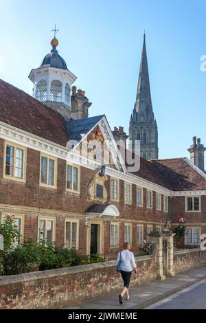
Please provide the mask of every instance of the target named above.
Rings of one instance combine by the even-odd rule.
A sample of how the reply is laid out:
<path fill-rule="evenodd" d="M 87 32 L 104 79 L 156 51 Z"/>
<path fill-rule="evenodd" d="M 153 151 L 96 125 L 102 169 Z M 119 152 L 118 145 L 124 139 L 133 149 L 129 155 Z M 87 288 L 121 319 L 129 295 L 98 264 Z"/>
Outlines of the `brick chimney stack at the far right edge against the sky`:
<path fill-rule="evenodd" d="M 198 168 L 205 171 L 204 165 L 204 152 L 206 147 L 201 144 L 201 138 L 196 140 L 196 137 L 192 137 L 193 144 L 187 149 L 190 153 L 190 160 L 196 165 Z"/>

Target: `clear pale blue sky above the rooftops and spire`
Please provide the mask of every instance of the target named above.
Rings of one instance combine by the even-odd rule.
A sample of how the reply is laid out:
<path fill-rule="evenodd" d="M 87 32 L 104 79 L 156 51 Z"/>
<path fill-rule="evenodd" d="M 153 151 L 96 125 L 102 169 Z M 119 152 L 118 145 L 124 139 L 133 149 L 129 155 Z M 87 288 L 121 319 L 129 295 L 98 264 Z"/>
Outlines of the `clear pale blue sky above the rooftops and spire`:
<path fill-rule="evenodd" d="M 50 51 L 56 23 L 58 51 L 93 102 L 89 115 L 128 131 L 146 30 L 159 158 L 185 157 L 193 135 L 206 145 L 205 12 L 201 0 L 0 0 L 0 78 L 32 93 L 27 76 Z"/>

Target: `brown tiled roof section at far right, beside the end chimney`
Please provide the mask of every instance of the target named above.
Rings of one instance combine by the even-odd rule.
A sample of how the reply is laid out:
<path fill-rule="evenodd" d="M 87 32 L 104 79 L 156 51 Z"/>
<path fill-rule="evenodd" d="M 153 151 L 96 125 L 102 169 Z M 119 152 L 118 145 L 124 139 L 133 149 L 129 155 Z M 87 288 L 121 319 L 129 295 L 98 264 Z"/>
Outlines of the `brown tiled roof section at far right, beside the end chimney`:
<path fill-rule="evenodd" d="M 172 190 L 206 190 L 206 179 L 185 158 L 154 159 L 155 166 Z"/>

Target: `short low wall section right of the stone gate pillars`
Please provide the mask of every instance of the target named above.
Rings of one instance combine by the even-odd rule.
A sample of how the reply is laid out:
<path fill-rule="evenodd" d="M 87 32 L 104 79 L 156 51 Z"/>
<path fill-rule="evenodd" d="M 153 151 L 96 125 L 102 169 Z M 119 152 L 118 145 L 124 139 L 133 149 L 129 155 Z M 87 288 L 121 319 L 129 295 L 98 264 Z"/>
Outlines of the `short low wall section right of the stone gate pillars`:
<path fill-rule="evenodd" d="M 186 249 L 174 252 L 174 274 L 206 264 L 206 251 L 201 249 Z"/>

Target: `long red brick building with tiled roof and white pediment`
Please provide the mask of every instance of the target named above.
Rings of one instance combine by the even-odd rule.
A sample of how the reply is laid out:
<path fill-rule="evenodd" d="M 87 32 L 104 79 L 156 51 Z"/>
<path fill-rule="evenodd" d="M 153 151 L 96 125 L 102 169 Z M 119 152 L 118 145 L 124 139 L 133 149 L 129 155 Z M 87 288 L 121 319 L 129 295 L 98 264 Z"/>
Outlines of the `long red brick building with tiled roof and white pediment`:
<path fill-rule="evenodd" d="M 107 141 L 117 151 L 104 115 L 67 120 L 27 93 L 0 81 L 0 212 L 15 214 L 24 237 L 114 254 L 124 241 L 137 251 L 165 219 L 187 221 L 187 246 L 206 232 L 206 175 L 186 158 L 146 161 L 128 172 L 108 150 L 105 172 L 83 140 Z M 76 145 L 67 144 L 76 140 Z"/>

